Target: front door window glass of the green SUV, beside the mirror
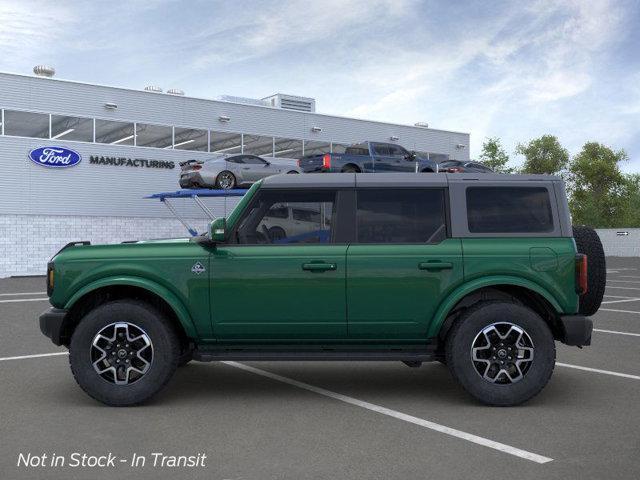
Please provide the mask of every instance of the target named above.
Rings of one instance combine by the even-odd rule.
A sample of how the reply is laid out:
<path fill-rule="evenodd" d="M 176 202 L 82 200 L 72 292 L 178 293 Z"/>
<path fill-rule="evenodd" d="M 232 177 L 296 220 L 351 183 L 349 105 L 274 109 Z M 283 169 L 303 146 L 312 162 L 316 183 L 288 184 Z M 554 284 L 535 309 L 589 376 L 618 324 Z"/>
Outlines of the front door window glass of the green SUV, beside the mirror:
<path fill-rule="evenodd" d="M 335 191 L 261 191 L 241 220 L 236 241 L 243 245 L 330 243 L 335 197 Z"/>

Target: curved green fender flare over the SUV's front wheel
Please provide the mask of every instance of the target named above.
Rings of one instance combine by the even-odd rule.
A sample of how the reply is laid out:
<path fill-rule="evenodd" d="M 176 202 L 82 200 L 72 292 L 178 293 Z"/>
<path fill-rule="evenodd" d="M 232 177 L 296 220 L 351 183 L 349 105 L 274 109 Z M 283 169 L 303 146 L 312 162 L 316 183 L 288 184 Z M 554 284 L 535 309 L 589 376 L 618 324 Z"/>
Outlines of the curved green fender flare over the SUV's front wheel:
<path fill-rule="evenodd" d="M 190 338 L 197 338 L 198 333 L 196 332 L 195 325 L 193 324 L 193 320 L 189 315 L 189 312 L 185 308 L 184 304 L 173 294 L 170 290 L 162 285 L 157 284 L 156 282 L 152 282 L 147 280 L 146 278 L 140 277 L 131 277 L 131 276 L 115 276 L 115 277 L 104 277 L 94 282 L 91 282 L 88 285 L 85 285 L 80 290 L 75 292 L 71 298 L 65 303 L 64 308 L 66 310 L 70 309 L 78 300 L 84 297 L 87 293 L 90 293 L 98 288 L 117 286 L 117 285 L 129 285 L 132 287 L 143 288 L 151 293 L 158 295 L 165 302 L 169 304 L 173 312 L 178 317 L 178 321 L 182 324 L 185 333 Z"/>

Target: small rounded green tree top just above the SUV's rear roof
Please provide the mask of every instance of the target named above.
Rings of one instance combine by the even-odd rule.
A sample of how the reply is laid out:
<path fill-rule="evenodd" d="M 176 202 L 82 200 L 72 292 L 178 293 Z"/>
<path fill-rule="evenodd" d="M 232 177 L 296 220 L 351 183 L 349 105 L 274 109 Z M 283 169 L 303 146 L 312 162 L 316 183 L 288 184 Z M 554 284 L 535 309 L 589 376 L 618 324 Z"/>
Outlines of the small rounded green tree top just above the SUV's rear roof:
<path fill-rule="evenodd" d="M 520 173 L 562 173 L 569 163 L 569 152 L 563 148 L 555 135 L 543 135 L 526 145 L 519 144 L 516 153 L 524 155 Z"/>

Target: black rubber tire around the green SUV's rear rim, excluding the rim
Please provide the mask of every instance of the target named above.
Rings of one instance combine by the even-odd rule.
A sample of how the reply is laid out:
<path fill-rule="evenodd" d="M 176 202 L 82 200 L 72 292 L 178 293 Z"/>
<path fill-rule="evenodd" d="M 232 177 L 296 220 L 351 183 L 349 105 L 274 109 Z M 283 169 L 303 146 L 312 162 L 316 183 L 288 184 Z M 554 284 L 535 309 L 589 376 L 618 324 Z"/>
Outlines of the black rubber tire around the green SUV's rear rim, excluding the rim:
<path fill-rule="evenodd" d="M 533 341 L 533 361 L 523 377 L 509 384 L 485 380 L 474 367 L 471 349 L 476 336 L 493 323 L 509 322 L 525 330 Z M 460 315 L 447 335 L 447 367 L 454 379 L 474 398 L 491 406 L 519 405 L 536 396 L 548 383 L 555 366 L 553 335 L 533 310 L 516 303 L 480 302 Z"/>

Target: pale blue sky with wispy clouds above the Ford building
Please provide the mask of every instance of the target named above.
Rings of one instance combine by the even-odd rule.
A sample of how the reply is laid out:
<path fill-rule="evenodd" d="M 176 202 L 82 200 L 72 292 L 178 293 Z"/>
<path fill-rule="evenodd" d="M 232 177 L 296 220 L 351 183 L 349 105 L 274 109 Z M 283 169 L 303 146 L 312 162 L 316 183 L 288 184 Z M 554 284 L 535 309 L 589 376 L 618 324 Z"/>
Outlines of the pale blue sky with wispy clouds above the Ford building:
<path fill-rule="evenodd" d="M 313 97 L 321 113 L 556 135 L 640 172 L 640 0 L 0 0 L 0 71 L 187 95 Z"/>

